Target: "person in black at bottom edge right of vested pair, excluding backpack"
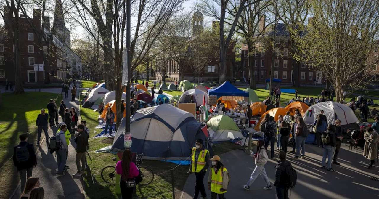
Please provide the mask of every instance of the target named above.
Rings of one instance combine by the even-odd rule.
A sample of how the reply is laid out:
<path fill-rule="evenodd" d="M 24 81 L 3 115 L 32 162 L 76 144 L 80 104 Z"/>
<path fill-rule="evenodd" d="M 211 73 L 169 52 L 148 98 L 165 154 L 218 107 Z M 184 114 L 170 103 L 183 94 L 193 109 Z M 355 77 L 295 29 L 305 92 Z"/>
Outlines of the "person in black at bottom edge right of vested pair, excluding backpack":
<path fill-rule="evenodd" d="M 279 151 L 279 161 L 275 167 L 275 190 L 278 199 L 288 199 L 288 173 L 292 165 L 286 159 L 286 153 Z"/>

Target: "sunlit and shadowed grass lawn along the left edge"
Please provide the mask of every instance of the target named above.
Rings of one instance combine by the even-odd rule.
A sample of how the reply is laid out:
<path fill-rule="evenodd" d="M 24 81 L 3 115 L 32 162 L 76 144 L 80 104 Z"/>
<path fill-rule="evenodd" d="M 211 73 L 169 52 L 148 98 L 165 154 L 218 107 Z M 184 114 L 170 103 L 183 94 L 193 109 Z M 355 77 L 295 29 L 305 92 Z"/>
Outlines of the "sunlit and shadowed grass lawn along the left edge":
<path fill-rule="evenodd" d="M 57 96 L 59 102 L 61 95 L 48 92 L 2 94 L 4 107 L 0 115 L 0 168 L 4 167 L 0 170 L 0 183 L 3 185 L 0 198 L 8 198 L 19 180 L 17 169 L 9 158 L 13 155 L 13 147 L 19 143 L 20 133 L 29 132 L 28 142 L 36 144 L 36 118 L 41 108 L 46 108 L 49 100 Z"/>

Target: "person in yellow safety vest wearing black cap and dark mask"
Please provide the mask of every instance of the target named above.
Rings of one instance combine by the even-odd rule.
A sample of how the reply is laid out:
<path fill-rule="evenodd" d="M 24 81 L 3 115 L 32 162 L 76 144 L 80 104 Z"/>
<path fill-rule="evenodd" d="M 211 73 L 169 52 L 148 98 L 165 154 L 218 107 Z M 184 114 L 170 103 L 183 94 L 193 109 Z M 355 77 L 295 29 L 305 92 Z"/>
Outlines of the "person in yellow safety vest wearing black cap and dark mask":
<path fill-rule="evenodd" d="M 207 198 L 203 179 L 209 167 L 209 151 L 204 148 L 203 143 L 202 139 L 196 140 L 196 147 L 192 148 L 191 167 L 187 172 L 187 174 L 195 173 L 196 175 L 194 199 L 197 199 L 199 192 L 201 193 L 200 199 Z"/>

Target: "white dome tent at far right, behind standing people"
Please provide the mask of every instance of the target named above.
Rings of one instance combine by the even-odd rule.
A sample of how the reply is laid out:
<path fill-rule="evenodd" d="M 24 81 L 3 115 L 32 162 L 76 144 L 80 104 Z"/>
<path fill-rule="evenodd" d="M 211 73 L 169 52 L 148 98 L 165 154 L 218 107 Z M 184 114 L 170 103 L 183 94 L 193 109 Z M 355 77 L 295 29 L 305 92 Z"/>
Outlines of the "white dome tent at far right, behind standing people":
<path fill-rule="evenodd" d="M 341 125 L 358 124 L 358 118 L 348 106 L 337 102 L 320 102 L 312 105 L 305 112 L 303 119 L 305 124 L 312 125 L 315 117 L 324 111 L 328 124 L 334 124 L 336 119 L 341 120 Z"/>

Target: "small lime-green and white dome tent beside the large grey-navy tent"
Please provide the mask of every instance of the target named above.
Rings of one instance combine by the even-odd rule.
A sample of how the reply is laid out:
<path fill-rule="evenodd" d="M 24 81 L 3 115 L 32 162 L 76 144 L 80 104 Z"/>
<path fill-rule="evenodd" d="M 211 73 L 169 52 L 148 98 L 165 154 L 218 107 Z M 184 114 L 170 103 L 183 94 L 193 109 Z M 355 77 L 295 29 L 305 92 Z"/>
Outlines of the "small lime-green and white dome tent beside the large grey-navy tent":
<path fill-rule="evenodd" d="M 207 126 L 212 141 L 229 141 L 230 139 L 243 138 L 233 119 L 226 115 L 211 118 L 207 122 Z"/>

